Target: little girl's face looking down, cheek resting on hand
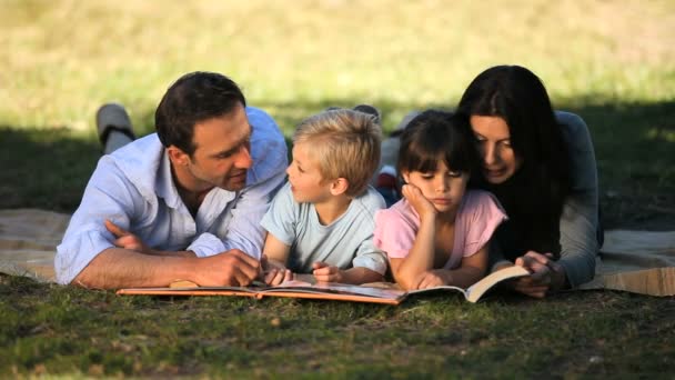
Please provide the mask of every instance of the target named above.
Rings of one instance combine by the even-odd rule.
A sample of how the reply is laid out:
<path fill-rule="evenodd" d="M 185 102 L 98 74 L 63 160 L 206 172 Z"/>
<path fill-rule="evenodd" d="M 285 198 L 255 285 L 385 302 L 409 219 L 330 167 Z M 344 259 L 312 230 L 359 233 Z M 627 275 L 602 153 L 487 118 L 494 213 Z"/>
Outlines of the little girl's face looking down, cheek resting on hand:
<path fill-rule="evenodd" d="M 406 183 L 422 191 L 437 212 L 456 211 L 469 182 L 467 173 L 450 170 L 443 160 L 439 161 L 435 171 L 404 171 L 402 174 Z"/>

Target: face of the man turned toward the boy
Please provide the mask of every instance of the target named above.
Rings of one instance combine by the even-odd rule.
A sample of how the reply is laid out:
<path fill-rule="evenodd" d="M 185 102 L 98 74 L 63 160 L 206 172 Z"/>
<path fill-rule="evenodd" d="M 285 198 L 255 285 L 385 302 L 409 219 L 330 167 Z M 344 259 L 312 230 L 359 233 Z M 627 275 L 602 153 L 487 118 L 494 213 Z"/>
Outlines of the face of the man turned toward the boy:
<path fill-rule="evenodd" d="M 246 186 L 251 159 L 251 126 L 243 106 L 222 117 L 194 126 L 192 142 L 197 147 L 189 159 L 187 172 L 193 191 L 221 188 L 229 191 Z"/>

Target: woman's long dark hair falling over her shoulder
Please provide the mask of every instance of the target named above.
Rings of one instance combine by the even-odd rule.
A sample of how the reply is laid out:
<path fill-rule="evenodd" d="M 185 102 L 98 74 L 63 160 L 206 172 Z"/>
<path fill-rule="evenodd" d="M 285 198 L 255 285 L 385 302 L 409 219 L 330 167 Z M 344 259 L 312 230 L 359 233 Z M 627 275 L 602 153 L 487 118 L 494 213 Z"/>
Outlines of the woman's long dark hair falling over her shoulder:
<path fill-rule="evenodd" d="M 467 120 L 472 116 L 504 119 L 514 153 L 523 161 L 500 184 L 473 177 L 473 184 L 492 191 L 510 217 L 500 231 L 511 240 L 504 253 L 515 258 L 534 250 L 557 256 L 560 218 L 571 191 L 570 152 L 542 81 L 520 66 L 490 68 L 469 84 L 457 113 Z"/>

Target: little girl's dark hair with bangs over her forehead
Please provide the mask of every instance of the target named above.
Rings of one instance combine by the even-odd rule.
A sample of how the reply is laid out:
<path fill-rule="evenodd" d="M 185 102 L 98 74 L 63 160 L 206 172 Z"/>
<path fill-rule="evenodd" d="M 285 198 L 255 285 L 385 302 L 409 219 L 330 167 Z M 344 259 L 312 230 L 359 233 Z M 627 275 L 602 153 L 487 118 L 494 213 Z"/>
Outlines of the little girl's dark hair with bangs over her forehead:
<path fill-rule="evenodd" d="M 480 162 L 471 129 L 464 118 L 450 112 L 426 110 L 410 121 L 401 133 L 396 169 L 429 172 L 440 160 L 449 169 L 472 174 Z"/>

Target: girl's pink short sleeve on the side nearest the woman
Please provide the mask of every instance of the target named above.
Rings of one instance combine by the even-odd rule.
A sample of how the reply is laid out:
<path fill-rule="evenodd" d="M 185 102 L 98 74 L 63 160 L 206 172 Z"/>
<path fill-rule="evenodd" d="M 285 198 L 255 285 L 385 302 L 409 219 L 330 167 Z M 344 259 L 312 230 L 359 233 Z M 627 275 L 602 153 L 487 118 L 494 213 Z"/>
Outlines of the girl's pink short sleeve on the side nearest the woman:
<path fill-rule="evenodd" d="M 469 199 L 462 216 L 466 231 L 463 256 L 470 257 L 491 241 L 494 231 L 507 217 L 500 201 L 490 192 L 475 191 L 465 197 Z"/>

